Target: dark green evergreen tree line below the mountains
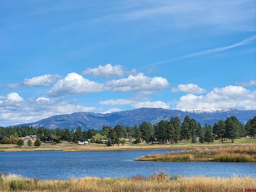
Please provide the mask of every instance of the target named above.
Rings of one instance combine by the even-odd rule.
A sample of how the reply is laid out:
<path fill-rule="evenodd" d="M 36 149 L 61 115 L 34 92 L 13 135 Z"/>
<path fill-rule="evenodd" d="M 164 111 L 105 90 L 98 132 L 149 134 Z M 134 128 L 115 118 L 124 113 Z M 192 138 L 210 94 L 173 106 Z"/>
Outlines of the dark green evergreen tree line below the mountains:
<path fill-rule="evenodd" d="M 129 142 L 139 143 L 144 140 L 149 142 L 162 142 L 171 144 L 177 143 L 179 140 L 191 140 L 192 143 L 199 139 L 200 143 L 213 142 L 214 139 L 234 139 L 241 138 L 246 135 L 254 136 L 256 134 L 256 116 L 248 120 L 246 125 L 243 125 L 234 116 L 220 120 L 214 125 L 205 124 L 204 127 L 195 119 L 186 116 L 181 123 L 178 117 L 171 118 L 170 121 L 161 120 L 152 125 L 150 122 L 143 122 L 139 126 L 134 125 L 111 126 L 103 125 L 102 130 L 89 129 L 82 131 L 81 127 L 76 130 L 68 128 L 46 129 L 44 127 L 33 128 L 32 126 L 9 126 L 7 128 L 0 127 L 0 135 L 7 137 L 25 137 L 27 135 L 36 135 L 38 139 L 44 141 L 48 136 L 52 136 L 58 142 L 59 140 L 70 141 L 77 143 L 79 140 L 85 141 L 91 139 L 91 142 L 100 142 L 100 140 L 108 140 L 108 145 L 124 143 L 125 140 L 120 138 L 128 138 Z M 133 141 L 133 138 L 136 138 Z"/>

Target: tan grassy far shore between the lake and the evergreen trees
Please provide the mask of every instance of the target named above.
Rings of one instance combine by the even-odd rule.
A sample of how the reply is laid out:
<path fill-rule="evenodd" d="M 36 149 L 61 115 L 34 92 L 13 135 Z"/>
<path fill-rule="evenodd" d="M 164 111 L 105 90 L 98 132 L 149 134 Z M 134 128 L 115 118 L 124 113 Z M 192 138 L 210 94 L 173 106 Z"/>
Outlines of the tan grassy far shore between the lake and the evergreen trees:
<path fill-rule="evenodd" d="M 72 142 L 62 141 L 61 143 L 52 145 L 49 143 L 43 143 L 41 146 L 27 146 L 27 142 L 24 142 L 24 146 L 18 147 L 16 144 L 0 144 L 0 152 L 11 152 L 11 151 L 35 151 L 35 150 L 62 150 L 62 151 L 110 151 L 110 150 L 168 150 L 168 149 L 193 149 L 193 148 L 214 148 L 219 146 L 233 146 L 233 145 L 244 145 L 244 144 L 256 144 L 256 139 L 243 138 L 236 139 L 234 143 L 231 140 L 225 140 L 222 144 L 221 140 L 214 140 L 213 143 L 207 144 L 191 144 L 180 141 L 178 144 L 126 144 L 118 146 L 106 146 L 106 144 L 95 144 L 90 143 L 87 145 L 78 145 Z"/>

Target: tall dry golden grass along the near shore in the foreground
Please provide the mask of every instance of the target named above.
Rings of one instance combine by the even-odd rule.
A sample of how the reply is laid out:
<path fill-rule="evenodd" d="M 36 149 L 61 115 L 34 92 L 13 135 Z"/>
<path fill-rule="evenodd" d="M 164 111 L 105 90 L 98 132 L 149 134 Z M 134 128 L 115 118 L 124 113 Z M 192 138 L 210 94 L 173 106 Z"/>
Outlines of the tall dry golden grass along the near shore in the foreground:
<path fill-rule="evenodd" d="M 70 178 L 69 180 L 38 180 L 13 174 L 0 176 L 1 192 L 238 192 L 256 189 L 256 178 L 245 176 L 182 177 L 162 170 L 149 177 Z"/>

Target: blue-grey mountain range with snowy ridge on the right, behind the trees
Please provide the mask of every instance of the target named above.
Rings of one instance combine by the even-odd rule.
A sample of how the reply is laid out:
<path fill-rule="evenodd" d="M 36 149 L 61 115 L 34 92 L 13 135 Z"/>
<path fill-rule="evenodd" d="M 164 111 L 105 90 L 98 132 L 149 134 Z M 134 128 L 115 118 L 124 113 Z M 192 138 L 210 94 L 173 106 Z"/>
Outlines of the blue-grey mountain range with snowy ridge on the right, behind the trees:
<path fill-rule="evenodd" d="M 180 118 L 181 122 L 185 116 L 194 118 L 201 126 L 206 123 L 213 125 L 219 120 L 226 120 L 227 117 L 235 116 L 240 123 L 246 124 L 249 119 L 256 116 L 256 110 L 238 110 L 236 108 L 229 108 L 224 110 L 202 110 L 202 109 L 188 109 L 186 111 L 168 110 L 162 108 L 138 108 L 135 110 L 127 110 L 113 113 L 92 113 L 92 112 L 76 112 L 73 114 L 56 115 L 37 122 L 19 124 L 15 126 L 33 126 L 33 128 L 44 127 L 48 129 L 68 128 L 69 130 L 78 128 L 82 130 L 96 129 L 101 130 L 105 124 L 107 126 L 115 127 L 117 124 L 124 126 L 139 126 L 142 122 L 151 122 L 156 124 L 161 120 L 170 120 L 174 117 Z"/>

